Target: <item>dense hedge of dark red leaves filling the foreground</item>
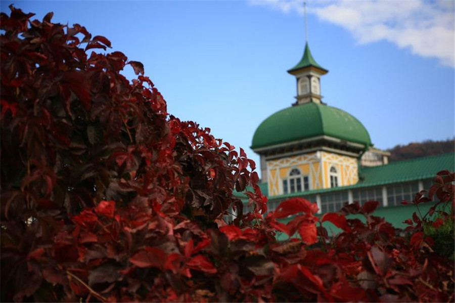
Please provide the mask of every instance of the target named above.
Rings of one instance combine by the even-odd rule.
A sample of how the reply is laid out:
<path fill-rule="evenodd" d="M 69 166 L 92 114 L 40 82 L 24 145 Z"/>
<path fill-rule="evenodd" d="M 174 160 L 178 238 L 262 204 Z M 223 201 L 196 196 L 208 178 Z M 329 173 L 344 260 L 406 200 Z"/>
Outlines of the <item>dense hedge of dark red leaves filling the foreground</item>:
<path fill-rule="evenodd" d="M 436 221 L 416 216 L 400 236 L 372 215 L 378 202 L 319 220 L 304 199 L 265 215 L 254 162 L 168 115 L 141 63 L 88 55 L 110 41 L 10 8 L 0 19 L 2 301 L 454 300 L 453 262 L 423 232 Z M 437 182 L 413 203 L 453 203 L 453 174 Z M 233 191 L 247 186 L 244 213 Z M 329 237 L 324 221 L 342 232 Z M 278 242 L 277 231 L 299 237 Z"/>

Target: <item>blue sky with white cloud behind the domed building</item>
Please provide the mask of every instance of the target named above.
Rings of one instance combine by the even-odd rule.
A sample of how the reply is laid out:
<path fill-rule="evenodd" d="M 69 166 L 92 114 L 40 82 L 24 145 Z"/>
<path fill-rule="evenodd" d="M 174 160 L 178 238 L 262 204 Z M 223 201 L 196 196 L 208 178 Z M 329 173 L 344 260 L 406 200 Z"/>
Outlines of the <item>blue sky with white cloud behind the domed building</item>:
<path fill-rule="evenodd" d="M 168 112 L 249 149 L 256 127 L 296 95 L 299 1 L 1 1 L 79 23 L 141 61 Z M 359 119 L 376 147 L 454 136 L 454 2 L 307 2 L 308 43 L 329 70 L 323 101 Z M 133 78 L 127 66 L 124 74 Z"/>

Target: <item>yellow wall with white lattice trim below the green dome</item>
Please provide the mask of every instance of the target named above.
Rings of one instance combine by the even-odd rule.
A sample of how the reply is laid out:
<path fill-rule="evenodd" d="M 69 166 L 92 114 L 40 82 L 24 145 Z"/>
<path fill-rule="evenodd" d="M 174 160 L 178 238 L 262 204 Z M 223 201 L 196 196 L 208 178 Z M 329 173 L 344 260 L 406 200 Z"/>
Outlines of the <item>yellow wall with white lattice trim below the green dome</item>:
<path fill-rule="evenodd" d="M 335 167 L 336 172 L 330 172 Z M 330 176 L 335 176 L 338 186 L 358 182 L 357 159 L 336 153 L 318 151 L 304 155 L 288 156 L 267 161 L 269 196 L 284 194 L 283 180 L 289 178 L 292 169 L 300 170 L 302 177 L 308 176 L 309 190 L 330 188 Z"/>

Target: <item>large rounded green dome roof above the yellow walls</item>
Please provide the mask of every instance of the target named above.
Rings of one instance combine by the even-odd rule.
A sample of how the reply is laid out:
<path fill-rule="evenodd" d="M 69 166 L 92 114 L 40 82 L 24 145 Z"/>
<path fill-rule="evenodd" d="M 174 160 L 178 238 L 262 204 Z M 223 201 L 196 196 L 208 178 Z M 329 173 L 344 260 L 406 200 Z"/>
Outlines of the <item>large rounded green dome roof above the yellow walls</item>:
<path fill-rule="evenodd" d="M 371 145 L 367 129 L 352 115 L 335 107 L 310 102 L 285 108 L 262 121 L 254 133 L 251 148 L 323 135 Z"/>

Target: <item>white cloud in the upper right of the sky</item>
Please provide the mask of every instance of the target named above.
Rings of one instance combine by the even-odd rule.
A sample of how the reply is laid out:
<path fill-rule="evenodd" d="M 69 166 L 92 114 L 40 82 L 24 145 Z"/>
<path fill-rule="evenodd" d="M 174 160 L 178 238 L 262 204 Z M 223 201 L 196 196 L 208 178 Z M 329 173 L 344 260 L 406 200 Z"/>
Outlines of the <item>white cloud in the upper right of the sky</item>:
<path fill-rule="evenodd" d="M 250 4 L 297 12 L 303 15 L 303 1 L 250 0 Z M 437 58 L 455 67 L 455 2 L 362 0 L 308 1 L 308 14 L 350 31 L 359 44 L 380 40 L 415 55 Z"/>

